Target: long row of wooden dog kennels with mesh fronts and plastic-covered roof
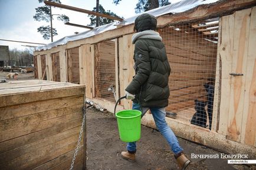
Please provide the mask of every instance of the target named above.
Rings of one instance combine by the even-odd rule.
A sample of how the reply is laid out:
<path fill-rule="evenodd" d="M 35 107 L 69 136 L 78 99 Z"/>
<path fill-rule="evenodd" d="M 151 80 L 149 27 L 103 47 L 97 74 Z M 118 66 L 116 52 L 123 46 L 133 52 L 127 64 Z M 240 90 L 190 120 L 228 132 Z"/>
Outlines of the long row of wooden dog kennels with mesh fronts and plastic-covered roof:
<path fill-rule="evenodd" d="M 256 3 L 200 2 L 206 4 L 182 1 L 149 11 L 157 16 L 157 32 L 166 45 L 172 69 L 166 121 L 182 138 L 255 158 Z M 114 94 L 108 88 L 114 85 L 119 98 L 134 76 L 135 18 L 86 31 L 77 39 L 71 36 L 72 41 L 42 46 L 34 54 L 48 59 L 60 52 L 60 81 L 67 82 L 65 52 L 78 48 L 80 84 L 86 85 L 87 98 L 113 112 Z M 51 64 L 47 65 L 47 79 L 52 80 Z M 117 110 L 131 107 L 131 101 L 123 100 Z M 142 123 L 155 128 L 150 113 Z"/>

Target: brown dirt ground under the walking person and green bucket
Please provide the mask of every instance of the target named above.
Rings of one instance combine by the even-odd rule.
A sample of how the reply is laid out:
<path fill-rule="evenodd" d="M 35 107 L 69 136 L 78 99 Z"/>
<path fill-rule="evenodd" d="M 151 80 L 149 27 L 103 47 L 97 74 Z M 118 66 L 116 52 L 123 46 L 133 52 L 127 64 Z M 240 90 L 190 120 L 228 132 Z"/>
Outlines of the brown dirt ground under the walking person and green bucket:
<path fill-rule="evenodd" d="M 142 126 L 142 138 L 137 142 L 136 162 L 121 158 L 126 143 L 120 141 L 117 122 L 111 113 L 102 113 L 94 108 L 87 109 L 87 170 L 176 170 L 175 158 L 165 138 L 159 131 Z M 218 151 L 178 138 L 185 154 L 220 154 Z M 189 170 L 232 170 L 226 159 L 191 159 Z M 238 169 L 250 169 L 238 166 Z"/>

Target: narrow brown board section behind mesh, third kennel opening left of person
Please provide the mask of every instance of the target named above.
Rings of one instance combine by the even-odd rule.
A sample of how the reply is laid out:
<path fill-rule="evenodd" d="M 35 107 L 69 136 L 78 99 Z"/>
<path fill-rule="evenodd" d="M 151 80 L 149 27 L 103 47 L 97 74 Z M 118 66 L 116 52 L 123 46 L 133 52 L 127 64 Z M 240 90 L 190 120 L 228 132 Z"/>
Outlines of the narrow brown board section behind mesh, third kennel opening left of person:
<path fill-rule="evenodd" d="M 60 53 L 56 52 L 54 54 L 51 54 L 52 59 L 52 80 L 53 81 L 61 81 L 61 75 L 60 75 Z M 61 58 L 62 60 L 63 58 Z"/>

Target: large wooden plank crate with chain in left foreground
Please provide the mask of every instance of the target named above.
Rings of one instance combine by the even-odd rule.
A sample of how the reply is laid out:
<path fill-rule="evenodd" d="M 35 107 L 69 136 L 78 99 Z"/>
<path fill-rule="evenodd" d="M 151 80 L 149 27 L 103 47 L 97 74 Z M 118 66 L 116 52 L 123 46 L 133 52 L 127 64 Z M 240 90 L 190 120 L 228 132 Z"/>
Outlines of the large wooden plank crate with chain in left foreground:
<path fill-rule="evenodd" d="M 69 169 L 85 86 L 42 80 L 0 84 L 1 169 Z M 74 169 L 86 167 L 86 136 Z"/>

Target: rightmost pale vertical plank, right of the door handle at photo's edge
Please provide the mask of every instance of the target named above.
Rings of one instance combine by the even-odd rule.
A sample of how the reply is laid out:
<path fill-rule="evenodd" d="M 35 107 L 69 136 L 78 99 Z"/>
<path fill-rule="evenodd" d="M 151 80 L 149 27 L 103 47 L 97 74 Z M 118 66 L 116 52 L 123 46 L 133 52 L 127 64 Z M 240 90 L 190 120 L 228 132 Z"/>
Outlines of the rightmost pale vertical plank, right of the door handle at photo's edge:
<path fill-rule="evenodd" d="M 245 82 L 244 115 L 242 118 L 241 142 L 256 147 L 256 7 L 252 8 L 249 42 L 248 60 Z"/>

